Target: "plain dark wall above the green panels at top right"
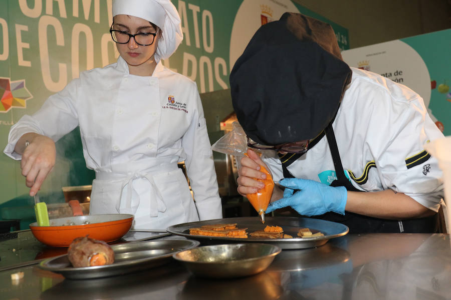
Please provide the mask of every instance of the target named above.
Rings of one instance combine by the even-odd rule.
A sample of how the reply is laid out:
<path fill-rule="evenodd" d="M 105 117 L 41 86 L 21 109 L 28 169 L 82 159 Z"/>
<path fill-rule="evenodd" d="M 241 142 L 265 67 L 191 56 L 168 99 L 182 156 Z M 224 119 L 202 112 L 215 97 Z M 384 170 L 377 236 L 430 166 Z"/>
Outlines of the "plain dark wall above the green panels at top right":
<path fill-rule="evenodd" d="M 293 0 L 348 29 L 349 47 L 451 28 L 451 0 Z"/>

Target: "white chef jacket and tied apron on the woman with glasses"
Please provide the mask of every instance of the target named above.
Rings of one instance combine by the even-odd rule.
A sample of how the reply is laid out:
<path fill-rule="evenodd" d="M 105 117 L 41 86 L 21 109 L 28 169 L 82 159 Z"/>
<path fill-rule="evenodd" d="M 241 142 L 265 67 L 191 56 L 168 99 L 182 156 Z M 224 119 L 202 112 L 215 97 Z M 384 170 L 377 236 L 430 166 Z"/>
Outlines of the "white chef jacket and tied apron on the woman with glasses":
<path fill-rule="evenodd" d="M 12 126 L 15 159 L 27 132 L 55 141 L 80 126 L 86 166 L 95 170 L 91 214 L 132 213 L 135 228 L 222 217 L 212 151 L 196 83 L 161 64 L 129 73 L 124 59 L 84 71 Z M 184 161 L 194 199 L 177 162 Z"/>

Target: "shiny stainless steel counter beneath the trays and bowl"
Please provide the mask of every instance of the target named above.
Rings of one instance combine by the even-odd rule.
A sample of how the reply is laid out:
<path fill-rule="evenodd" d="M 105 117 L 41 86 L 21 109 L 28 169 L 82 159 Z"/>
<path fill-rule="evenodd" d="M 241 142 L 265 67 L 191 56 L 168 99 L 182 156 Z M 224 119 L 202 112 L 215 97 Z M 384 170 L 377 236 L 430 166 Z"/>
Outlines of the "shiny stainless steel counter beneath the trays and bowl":
<path fill-rule="evenodd" d="M 0 298 L 451 298 L 448 234 L 347 234 L 317 248 L 283 250 L 266 271 L 229 280 L 194 277 L 175 260 L 141 272 L 90 280 L 68 280 L 40 269 L 37 264 L 7 269 L 61 251 L 64 250 L 46 248 L 29 231 L 0 241 Z M 24 278 L 12 280 L 11 274 L 19 271 L 25 273 Z"/>

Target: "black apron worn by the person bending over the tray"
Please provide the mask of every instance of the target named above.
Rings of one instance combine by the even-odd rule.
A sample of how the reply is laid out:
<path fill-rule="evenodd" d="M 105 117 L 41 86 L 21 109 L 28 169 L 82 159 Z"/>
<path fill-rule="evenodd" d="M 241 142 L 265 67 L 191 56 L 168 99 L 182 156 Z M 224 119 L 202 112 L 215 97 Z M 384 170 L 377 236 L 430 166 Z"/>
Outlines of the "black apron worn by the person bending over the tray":
<path fill-rule="evenodd" d="M 332 125 L 329 124 L 325 129 L 329 148 L 334 161 L 337 179 L 332 181 L 331 186 L 344 186 L 350 191 L 361 191 L 355 188 L 346 178 L 343 166 L 341 164 L 340 153 L 338 152 L 337 141 L 335 140 Z M 320 138 L 322 136 L 319 136 Z M 316 140 L 317 142 L 318 140 Z M 315 142 L 315 143 L 316 143 Z M 313 145 L 312 145 L 313 146 Z M 294 158 L 294 157 L 293 157 Z M 292 162 L 292 161 L 291 161 Z M 287 169 L 287 163 L 282 163 L 285 177 L 293 177 Z M 365 216 L 353 212 L 345 211 L 345 214 L 335 212 L 327 212 L 322 215 L 314 216 L 324 220 L 339 222 L 349 227 L 350 233 L 366 233 L 366 232 L 405 232 L 405 233 L 436 233 L 439 232 L 439 215 L 435 213 L 432 216 L 408 220 L 390 220 Z"/>

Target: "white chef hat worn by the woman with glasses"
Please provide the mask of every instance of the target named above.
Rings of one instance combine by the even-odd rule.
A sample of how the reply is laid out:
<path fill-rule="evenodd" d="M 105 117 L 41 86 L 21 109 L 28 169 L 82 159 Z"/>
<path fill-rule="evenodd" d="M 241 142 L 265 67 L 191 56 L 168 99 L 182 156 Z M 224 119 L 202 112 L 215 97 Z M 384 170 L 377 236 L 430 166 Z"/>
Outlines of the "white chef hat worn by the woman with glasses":
<path fill-rule="evenodd" d="M 180 16 L 170 0 L 113 0 L 113 16 L 128 14 L 148 20 L 161 28 L 155 60 L 168 58 L 183 39 Z"/>

